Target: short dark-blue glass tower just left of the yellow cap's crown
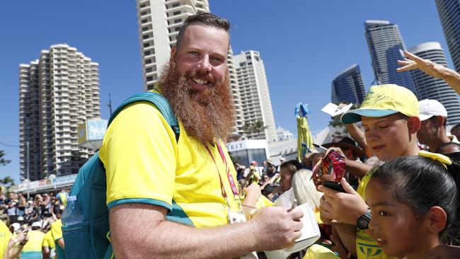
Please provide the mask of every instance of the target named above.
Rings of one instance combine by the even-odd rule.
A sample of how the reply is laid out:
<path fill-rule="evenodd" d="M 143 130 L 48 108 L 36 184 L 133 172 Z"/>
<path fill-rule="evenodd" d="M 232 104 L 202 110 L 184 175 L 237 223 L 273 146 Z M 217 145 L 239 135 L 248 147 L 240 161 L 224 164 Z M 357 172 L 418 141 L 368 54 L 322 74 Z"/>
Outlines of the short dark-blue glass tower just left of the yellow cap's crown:
<path fill-rule="evenodd" d="M 360 66 L 353 64 L 351 67 L 342 71 L 332 81 L 330 89 L 330 102 L 331 103 L 362 103 L 364 99 L 364 83 Z"/>

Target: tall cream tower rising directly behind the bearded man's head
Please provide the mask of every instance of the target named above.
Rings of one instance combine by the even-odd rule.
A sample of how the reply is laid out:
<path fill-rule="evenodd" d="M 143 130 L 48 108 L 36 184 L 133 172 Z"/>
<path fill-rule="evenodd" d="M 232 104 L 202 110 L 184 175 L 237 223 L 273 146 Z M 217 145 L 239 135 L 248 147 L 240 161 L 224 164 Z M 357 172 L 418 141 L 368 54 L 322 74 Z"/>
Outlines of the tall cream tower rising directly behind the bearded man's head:
<path fill-rule="evenodd" d="M 176 45 L 183 21 L 193 14 L 207 12 L 207 0 L 137 0 L 144 90 L 154 88 L 163 65 L 169 62 L 171 47 Z M 235 132 L 241 134 L 243 116 L 232 53 L 230 50 L 227 65 L 236 106 Z"/>

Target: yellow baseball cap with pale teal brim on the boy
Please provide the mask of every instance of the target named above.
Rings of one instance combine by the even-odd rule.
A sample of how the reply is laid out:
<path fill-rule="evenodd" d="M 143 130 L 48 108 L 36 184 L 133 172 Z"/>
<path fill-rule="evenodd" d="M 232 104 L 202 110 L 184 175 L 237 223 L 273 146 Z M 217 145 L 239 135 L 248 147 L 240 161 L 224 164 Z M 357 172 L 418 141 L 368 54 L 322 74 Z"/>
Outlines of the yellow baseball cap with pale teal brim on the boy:
<path fill-rule="evenodd" d="M 364 117 L 385 117 L 402 113 L 408 117 L 418 117 L 418 100 L 413 92 L 396 84 L 371 86 L 361 107 L 344 113 L 340 120 L 344 124 L 359 122 Z"/>

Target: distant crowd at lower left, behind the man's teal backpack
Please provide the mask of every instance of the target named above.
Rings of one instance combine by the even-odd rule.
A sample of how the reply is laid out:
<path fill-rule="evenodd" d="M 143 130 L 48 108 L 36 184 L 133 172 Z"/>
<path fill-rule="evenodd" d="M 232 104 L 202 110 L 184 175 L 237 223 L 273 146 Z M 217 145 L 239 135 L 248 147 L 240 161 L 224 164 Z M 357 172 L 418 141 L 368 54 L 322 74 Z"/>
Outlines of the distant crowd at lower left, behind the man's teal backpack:
<path fill-rule="evenodd" d="M 60 192 L 33 195 L 25 195 L 23 192 L 1 194 L 0 219 L 3 224 L 0 224 L 8 231 L 1 232 L 0 228 L 0 246 L 6 253 L 6 257 L 1 258 L 21 258 L 21 254 L 23 258 L 28 258 L 24 253 L 54 258 L 56 244 L 51 227 L 61 217 L 68 192 L 69 190 L 64 189 Z"/>

